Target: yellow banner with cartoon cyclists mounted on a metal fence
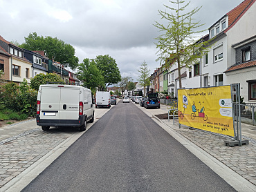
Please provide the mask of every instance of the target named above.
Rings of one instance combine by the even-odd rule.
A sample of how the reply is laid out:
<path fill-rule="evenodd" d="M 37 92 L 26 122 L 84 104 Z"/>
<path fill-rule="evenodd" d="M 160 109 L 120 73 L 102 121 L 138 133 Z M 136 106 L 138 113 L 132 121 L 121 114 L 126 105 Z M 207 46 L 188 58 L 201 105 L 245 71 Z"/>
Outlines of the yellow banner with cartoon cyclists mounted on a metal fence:
<path fill-rule="evenodd" d="M 234 136 L 230 86 L 178 90 L 179 123 Z"/>

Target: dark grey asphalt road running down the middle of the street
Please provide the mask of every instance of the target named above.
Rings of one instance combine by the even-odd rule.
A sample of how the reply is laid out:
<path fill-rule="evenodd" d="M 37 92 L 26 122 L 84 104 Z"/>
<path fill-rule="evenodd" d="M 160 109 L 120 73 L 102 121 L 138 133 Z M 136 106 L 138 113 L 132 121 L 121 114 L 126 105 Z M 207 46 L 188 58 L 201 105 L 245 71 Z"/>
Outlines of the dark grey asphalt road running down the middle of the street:
<path fill-rule="evenodd" d="M 23 191 L 235 189 L 134 104 L 120 101 Z"/>

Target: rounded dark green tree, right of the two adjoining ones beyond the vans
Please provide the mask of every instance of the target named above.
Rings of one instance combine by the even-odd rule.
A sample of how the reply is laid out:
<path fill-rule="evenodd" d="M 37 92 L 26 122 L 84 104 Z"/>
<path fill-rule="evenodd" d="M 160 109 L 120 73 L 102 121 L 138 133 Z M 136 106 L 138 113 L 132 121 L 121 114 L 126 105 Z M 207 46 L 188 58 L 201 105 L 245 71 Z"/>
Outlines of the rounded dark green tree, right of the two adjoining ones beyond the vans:
<path fill-rule="evenodd" d="M 104 77 L 104 88 L 121 81 L 121 73 L 115 59 L 109 55 L 98 55 L 95 63 Z"/>

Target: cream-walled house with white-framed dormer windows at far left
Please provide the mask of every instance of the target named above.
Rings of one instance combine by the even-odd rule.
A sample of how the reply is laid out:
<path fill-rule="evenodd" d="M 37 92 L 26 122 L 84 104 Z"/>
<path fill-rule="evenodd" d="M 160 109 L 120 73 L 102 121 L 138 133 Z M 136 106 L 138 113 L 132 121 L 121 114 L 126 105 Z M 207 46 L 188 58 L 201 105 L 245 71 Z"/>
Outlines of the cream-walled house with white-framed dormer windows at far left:
<path fill-rule="evenodd" d="M 2 53 L 0 59 L 5 71 L 5 75 L 3 77 L 7 81 L 14 81 L 17 84 L 24 79 L 30 83 L 30 77 L 33 77 L 33 67 L 30 61 L 24 57 L 24 50 L 14 44 L 11 44 L 9 41 L 6 41 L 6 39 L 3 39 L 1 35 L 0 46 Z M 5 57 L 3 57 L 4 54 Z M 6 56 L 9 57 L 9 61 L 6 60 Z"/>

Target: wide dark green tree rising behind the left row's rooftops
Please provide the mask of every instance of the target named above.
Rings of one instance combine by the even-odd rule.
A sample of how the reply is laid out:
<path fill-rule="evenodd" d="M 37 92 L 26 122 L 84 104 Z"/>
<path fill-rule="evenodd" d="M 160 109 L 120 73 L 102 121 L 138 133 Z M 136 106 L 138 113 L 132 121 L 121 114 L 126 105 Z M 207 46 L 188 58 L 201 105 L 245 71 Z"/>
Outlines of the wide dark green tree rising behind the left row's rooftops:
<path fill-rule="evenodd" d="M 64 41 L 50 36 L 39 37 L 37 32 L 30 33 L 25 37 L 25 43 L 20 45 L 21 48 L 28 50 L 44 50 L 50 59 L 60 62 L 64 66 L 75 69 L 78 66 L 78 57 L 75 57 L 75 48 Z"/>

